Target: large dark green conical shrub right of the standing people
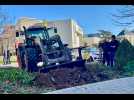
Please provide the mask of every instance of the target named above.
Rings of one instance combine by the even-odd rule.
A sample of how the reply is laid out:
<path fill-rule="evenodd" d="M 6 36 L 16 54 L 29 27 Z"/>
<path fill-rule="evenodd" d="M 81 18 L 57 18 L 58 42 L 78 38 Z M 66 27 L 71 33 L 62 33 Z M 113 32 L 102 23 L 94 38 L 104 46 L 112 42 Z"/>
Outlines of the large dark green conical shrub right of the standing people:
<path fill-rule="evenodd" d="M 119 70 L 123 70 L 123 66 L 126 66 L 129 61 L 134 60 L 134 47 L 128 40 L 124 39 L 120 43 L 115 55 L 115 60 L 115 66 Z"/>

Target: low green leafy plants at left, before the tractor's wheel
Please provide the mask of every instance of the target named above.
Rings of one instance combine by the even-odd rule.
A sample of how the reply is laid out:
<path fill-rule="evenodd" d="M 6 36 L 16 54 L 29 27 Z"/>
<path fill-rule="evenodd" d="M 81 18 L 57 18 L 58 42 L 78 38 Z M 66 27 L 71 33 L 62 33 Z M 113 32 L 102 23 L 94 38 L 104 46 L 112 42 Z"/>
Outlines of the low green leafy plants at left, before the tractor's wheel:
<path fill-rule="evenodd" d="M 6 83 L 19 82 L 20 84 L 30 84 L 34 75 L 21 69 L 9 68 L 0 70 L 0 80 Z"/>

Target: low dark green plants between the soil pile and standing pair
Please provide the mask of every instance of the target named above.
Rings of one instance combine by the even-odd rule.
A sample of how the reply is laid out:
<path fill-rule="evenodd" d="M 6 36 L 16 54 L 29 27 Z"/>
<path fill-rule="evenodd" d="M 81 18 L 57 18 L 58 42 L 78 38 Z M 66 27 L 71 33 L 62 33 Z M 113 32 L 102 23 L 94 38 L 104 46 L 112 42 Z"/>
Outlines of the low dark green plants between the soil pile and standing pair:
<path fill-rule="evenodd" d="M 92 62 L 86 65 L 87 70 L 95 81 L 103 81 L 108 79 L 118 78 L 119 75 L 115 70 L 98 62 Z"/>

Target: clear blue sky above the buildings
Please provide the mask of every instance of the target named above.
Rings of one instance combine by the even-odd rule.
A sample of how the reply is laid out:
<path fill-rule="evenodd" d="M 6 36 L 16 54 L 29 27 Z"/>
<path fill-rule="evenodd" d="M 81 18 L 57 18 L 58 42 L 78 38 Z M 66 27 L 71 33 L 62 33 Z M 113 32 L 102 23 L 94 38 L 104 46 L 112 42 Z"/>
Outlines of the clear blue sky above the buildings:
<path fill-rule="evenodd" d="M 85 34 L 107 30 L 118 34 L 119 27 L 111 20 L 111 14 L 117 13 L 121 5 L 2 5 L 15 24 L 20 17 L 33 17 L 40 20 L 73 19 Z"/>

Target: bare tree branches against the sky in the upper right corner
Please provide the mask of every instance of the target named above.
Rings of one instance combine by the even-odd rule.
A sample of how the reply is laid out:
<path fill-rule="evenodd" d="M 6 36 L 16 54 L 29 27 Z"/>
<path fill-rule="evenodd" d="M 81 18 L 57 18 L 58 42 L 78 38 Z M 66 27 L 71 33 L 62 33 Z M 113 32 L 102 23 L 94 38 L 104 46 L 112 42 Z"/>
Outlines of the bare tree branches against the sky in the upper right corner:
<path fill-rule="evenodd" d="M 116 25 L 129 26 L 134 23 L 134 5 L 124 5 L 112 14 L 112 20 Z"/>

